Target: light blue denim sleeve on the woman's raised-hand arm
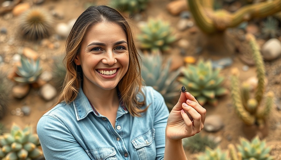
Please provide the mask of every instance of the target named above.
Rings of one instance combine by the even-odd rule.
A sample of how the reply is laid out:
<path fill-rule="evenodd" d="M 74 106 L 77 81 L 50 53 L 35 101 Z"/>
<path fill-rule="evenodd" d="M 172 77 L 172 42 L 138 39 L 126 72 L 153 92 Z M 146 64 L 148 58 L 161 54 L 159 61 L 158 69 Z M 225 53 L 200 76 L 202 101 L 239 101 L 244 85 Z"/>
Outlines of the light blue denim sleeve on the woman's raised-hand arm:
<path fill-rule="evenodd" d="M 161 160 L 164 159 L 165 130 L 167 125 L 167 119 L 169 116 L 169 110 L 166 106 L 163 96 L 157 91 L 154 91 L 153 105 L 155 106 L 154 128 L 156 143 L 156 160 Z"/>

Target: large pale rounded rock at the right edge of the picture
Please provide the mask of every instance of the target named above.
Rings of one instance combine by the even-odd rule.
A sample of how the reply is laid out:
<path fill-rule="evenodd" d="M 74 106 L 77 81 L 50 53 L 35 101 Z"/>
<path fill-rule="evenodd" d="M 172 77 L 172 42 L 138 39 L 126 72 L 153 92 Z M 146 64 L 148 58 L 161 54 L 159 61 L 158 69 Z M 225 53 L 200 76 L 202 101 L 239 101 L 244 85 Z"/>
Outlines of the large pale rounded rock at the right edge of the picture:
<path fill-rule="evenodd" d="M 264 60 L 272 61 L 281 54 L 281 42 L 277 38 L 271 38 L 265 42 L 261 49 Z"/>

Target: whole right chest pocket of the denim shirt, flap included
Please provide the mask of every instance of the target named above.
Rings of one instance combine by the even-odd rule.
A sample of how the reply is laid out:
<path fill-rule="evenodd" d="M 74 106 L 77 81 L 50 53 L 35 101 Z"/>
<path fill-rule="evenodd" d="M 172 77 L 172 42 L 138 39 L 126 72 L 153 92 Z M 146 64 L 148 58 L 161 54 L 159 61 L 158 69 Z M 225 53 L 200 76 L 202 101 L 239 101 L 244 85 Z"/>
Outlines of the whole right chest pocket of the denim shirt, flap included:
<path fill-rule="evenodd" d="M 135 147 L 140 159 L 155 159 L 156 146 L 154 141 L 155 129 L 152 128 L 147 133 L 133 139 L 131 143 Z"/>

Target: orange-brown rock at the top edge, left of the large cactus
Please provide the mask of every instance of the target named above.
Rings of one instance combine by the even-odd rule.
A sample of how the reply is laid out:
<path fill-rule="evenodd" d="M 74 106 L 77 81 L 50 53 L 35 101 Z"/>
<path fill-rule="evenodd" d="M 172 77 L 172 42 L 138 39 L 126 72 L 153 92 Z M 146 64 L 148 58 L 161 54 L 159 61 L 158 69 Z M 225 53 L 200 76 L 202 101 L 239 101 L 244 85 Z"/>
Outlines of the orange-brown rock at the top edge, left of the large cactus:
<path fill-rule="evenodd" d="M 188 10 L 187 0 L 175 0 L 167 4 L 167 10 L 172 15 L 177 16 L 182 11 Z"/>

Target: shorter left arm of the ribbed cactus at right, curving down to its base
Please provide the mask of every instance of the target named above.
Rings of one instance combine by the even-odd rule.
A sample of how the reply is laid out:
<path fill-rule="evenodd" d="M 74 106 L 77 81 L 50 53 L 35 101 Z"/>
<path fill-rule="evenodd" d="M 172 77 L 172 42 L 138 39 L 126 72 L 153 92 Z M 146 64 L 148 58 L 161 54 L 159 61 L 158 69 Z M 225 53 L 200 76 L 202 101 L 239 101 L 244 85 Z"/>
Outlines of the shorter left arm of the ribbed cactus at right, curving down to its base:
<path fill-rule="evenodd" d="M 252 116 L 249 112 L 247 112 L 242 104 L 238 74 L 239 74 L 238 69 L 234 68 L 232 70 L 232 75 L 231 75 L 232 103 L 236 109 L 236 113 L 243 120 L 243 122 L 247 125 L 252 125 L 255 123 L 255 117 Z"/>

